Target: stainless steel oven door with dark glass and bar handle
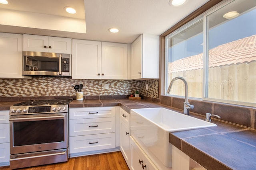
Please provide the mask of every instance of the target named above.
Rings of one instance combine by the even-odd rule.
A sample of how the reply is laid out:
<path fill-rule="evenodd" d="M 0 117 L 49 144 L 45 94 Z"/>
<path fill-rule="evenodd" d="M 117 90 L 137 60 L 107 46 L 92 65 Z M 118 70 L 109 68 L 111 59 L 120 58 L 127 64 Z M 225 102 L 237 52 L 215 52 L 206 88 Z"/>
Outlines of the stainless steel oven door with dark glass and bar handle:
<path fill-rule="evenodd" d="M 10 154 L 68 148 L 68 113 L 10 116 Z"/>

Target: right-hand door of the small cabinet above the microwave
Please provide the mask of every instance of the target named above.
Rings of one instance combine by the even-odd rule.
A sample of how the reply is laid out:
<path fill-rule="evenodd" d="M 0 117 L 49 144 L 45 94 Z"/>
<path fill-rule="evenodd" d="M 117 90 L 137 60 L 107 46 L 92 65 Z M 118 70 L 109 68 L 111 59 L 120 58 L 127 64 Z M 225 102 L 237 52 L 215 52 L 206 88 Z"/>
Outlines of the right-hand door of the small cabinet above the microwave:
<path fill-rule="evenodd" d="M 62 37 L 48 37 L 49 53 L 72 53 L 72 39 Z"/>

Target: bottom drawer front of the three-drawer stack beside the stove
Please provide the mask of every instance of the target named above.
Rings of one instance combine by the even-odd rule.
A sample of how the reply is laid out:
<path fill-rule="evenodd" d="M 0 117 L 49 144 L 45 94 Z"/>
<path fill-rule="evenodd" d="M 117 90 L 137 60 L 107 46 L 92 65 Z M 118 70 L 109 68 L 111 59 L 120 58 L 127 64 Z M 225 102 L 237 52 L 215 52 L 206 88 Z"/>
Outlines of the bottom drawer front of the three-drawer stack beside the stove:
<path fill-rule="evenodd" d="M 84 135 L 69 138 L 69 152 L 88 152 L 116 147 L 115 133 L 104 133 L 98 135 Z"/>

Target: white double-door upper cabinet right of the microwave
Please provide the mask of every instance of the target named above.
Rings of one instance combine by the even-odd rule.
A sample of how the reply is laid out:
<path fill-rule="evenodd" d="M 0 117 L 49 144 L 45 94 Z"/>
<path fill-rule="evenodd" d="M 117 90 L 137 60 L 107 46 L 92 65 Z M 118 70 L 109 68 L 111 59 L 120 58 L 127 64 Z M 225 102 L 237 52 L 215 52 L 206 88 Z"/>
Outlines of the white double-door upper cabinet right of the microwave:
<path fill-rule="evenodd" d="M 127 79 L 127 44 L 73 39 L 72 78 Z"/>

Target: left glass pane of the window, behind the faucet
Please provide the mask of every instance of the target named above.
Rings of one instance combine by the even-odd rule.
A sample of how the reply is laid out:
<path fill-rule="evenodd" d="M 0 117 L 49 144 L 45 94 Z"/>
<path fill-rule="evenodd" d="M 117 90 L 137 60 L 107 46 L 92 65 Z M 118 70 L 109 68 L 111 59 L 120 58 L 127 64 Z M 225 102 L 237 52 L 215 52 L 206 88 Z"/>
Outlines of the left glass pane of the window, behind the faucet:
<path fill-rule="evenodd" d="M 184 26 L 166 37 L 166 89 L 174 77 L 181 76 L 188 82 L 188 96 L 202 98 L 203 92 L 203 20 Z M 183 88 L 179 88 L 179 87 Z M 165 90 L 166 91 L 166 90 Z M 184 82 L 177 80 L 170 94 L 184 96 Z"/>

